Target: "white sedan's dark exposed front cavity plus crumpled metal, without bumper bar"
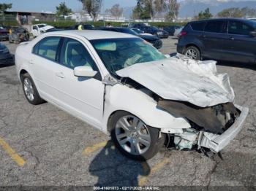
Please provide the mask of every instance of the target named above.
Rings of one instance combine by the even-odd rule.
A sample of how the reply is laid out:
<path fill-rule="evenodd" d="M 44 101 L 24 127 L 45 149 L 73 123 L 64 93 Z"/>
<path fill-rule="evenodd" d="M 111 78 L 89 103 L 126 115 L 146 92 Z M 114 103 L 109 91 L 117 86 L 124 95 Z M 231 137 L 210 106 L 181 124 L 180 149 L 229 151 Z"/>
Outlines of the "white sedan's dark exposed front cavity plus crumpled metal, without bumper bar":
<path fill-rule="evenodd" d="M 184 117 L 189 120 L 191 128 L 173 135 L 173 142 L 179 150 L 192 149 L 195 145 L 200 146 L 199 141 L 202 139 L 203 132 L 219 135 L 224 133 L 240 115 L 240 111 L 233 103 L 202 108 L 181 101 L 159 100 L 157 106 L 175 117 Z"/>

